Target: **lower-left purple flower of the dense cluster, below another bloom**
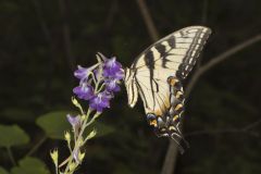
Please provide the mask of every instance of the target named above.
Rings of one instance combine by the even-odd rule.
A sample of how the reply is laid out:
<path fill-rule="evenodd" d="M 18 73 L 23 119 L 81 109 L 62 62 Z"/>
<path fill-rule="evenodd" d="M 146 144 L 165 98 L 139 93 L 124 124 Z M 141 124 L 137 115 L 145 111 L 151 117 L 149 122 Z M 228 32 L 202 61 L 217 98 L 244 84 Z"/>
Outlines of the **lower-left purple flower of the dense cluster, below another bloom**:
<path fill-rule="evenodd" d="M 82 83 L 73 89 L 79 99 L 89 100 L 94 97 L 94 87 L 87 83 Z"/>

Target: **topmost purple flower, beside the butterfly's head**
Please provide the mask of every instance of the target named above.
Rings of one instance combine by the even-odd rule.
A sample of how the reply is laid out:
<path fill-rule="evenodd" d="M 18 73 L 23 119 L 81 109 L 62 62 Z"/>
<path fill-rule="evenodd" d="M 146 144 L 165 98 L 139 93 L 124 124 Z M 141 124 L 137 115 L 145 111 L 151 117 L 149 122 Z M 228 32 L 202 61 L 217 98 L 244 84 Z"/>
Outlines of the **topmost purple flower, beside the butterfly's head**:
<path fill-rule="evenodd" d="M 116 61 L 116 58 L 113 57 L 112 59 L 107 59 L 103 66 L 103 76 L 111 77 L 111 78 L 123 78 L 123 70 L 122 64 Z"/>

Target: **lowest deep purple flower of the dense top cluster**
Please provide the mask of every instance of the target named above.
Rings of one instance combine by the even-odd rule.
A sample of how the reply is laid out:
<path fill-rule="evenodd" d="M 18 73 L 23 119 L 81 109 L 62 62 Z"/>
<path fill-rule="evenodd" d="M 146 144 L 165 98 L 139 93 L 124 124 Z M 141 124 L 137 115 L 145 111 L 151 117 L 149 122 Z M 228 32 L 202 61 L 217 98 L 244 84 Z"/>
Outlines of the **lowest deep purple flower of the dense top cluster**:
<path fill-rule="evenodd" d="M 104 108 L 110 108 L 111 98 L 112 95 L 110 92 L 100 92 L 90 100 L 90 108 L 97 110 L 98 112 L 102 112 Z"/>

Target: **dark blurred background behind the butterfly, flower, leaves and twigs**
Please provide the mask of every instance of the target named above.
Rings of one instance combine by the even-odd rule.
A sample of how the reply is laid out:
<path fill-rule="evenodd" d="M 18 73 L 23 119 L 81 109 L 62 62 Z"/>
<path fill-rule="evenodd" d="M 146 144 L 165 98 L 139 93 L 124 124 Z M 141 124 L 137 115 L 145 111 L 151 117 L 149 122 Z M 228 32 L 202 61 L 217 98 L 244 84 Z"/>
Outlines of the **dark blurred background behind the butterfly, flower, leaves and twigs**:
<path fill-rule="evenodd" d="M 146 2 L 160 37 L 190 25 L 212 29 L 202 65 L 261 32 L 260 0 Z M 90 66 L 100 51 L 129 66 L 153 42 L 135 0 L 0 0 L 0 122 L 18 124 L 32 138 L 29 145 L 13 149 L 15 159 L 42 136 L 35 125 L 39 115 L 74 109 L 77 64 Z M 261 173 L 260 46 L 243 49 L 199 78 L 184 114 L 190 148 L 178 154 L 175 173 Z M 100 122 L 116 130 L 89 141 L 78 173 L 160 173 L 167 140 L 153 135 L 141 101 L 127 107 L 123 85 Z M 53 171 L 49 151 L 57 146 L 66 150 L 64 141 L 48 139 L 33 156 Z M 11 167 L 4 152 L 0 157 L 1 165 Z"/>

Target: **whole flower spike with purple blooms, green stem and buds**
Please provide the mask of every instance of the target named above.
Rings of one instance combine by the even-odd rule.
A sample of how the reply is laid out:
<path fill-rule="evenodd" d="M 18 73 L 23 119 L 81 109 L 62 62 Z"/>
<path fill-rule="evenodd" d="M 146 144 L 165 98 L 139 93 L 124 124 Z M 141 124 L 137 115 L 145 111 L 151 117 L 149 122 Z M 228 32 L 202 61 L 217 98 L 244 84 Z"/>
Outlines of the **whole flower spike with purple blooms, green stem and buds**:
<path fill-rule="evenodd" d="M 94 129 L 86 136 L 86 127 L 96 121 L 103 109 L 110 107 L 110 100 L 114 97 L 114 92 L 120 91 L 120 83 L 124 77 L 121 63 L 116 61 L 116 58 L 108 59 L 101 53 L 97 54 L 97 64 L 90 67 L 78 66 L 74 72 L 74 76 L 79 79 L 79 85 L 73 89 L 73 92 L 77 98 L 88 101 L 89 107 L 86 112 L 77 99 L 72 98 L 73 104 L 79 109 L 80 114 L 66 115 L 72 126 L 72 130 L 66 130 L 64 134 L 71 152 L 70 157 L 59 164 L 58 150 L 51 151 L 57 174 L 75 172 L 85 157 L 83 148 L 86 141 L 97 134 L 97 130 Z"/>

